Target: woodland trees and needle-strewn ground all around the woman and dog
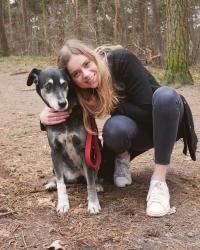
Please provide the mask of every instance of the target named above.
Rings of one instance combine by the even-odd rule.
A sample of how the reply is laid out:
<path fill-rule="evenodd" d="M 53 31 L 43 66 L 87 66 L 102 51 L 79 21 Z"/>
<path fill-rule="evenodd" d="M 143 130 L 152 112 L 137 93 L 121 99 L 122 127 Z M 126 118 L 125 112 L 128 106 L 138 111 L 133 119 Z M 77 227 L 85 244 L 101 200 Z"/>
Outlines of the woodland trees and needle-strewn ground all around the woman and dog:
<path fill-rule="evenodd" d="M 26 80 L 32 68 L 56 65 L 65 39 L 122 44 L 161 83 L 167 71 L 183 76 L 177 91 L 200 138 L 200 0 L 0 0 L 0 13 L 0 249 L 46 250 L 61 240 L 70 250 L 199 250 L 200 149 L 194 162 L 182 154 L 181 140 L 167 175 L 169 215 L 145 213 L 154 167 L 149 150 L 131 162 L 132 185 L 104 186 L 100 214 L 88 214 L 86 186 L 74 184 L 67 187 L 70 212 L 59 216 L 56 192 L 43 187 L 52 177 L 39 127 L 44 103 Z"/>

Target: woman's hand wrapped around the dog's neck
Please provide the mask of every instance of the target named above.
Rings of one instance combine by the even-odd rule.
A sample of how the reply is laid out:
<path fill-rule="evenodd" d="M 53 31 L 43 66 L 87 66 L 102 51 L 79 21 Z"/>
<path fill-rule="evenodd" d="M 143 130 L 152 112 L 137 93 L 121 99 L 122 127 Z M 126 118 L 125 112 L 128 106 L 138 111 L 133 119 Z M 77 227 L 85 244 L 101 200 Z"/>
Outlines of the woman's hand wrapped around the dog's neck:
<path fill-rule="evenodd" d="M 40 113 L 40 121 L 43 125 L 55 125 L 62 123 L 68 118 L 72 110 L 67 111 L 56 111 L 52 108 L 45 107 Z"/>

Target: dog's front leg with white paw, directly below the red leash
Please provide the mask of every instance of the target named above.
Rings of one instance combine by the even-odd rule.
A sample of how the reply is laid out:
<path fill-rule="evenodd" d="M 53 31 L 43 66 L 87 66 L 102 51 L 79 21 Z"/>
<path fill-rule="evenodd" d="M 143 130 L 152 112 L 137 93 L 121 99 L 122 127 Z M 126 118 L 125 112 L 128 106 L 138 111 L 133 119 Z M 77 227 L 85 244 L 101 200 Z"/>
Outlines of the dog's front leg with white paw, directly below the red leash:
<path fill-rule="evenodd" d="M 95 171 L 88 168 L 85 161 L 83 161 L 83 169 L 84 169 L 85 177 L 87 181 L 88 211 L 91 214 L 97 214 L 100 212 L 101 207 L 99 204 L 99 199 L 97 196 L 97 190 L 96 190 L 96 185 L 95 185 Z"/>

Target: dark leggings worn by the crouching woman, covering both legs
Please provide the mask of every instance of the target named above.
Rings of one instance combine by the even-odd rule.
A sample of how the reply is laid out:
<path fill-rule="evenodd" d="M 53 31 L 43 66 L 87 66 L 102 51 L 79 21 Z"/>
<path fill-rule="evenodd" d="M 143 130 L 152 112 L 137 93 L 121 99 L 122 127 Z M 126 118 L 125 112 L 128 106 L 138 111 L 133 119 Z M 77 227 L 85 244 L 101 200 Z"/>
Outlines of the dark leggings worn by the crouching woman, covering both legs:
<path fill-rule="evenodd" d="M 184 106 L 180 95 L 172 88 L 158 88 L 152 98 L 153 124 L 139 124 L 132 118 L 115 115 L 103 128 L 105 145 L 115 153 L 141 152 L 155 149 L 155 163 L 167 165 L 181 123 Z"/>

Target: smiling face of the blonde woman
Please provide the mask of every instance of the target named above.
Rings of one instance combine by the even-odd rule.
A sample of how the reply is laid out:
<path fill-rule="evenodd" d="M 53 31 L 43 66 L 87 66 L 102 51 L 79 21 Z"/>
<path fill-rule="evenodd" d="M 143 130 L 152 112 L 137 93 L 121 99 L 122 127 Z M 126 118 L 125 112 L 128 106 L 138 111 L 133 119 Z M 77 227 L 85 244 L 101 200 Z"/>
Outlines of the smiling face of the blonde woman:
<path fill-rule="evenodd" d="M 97 88 L 97 65 L 84 55 L 72 55 L 68 64 L 68 72 L 74 83 L 83 89 Z"/>

